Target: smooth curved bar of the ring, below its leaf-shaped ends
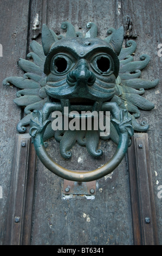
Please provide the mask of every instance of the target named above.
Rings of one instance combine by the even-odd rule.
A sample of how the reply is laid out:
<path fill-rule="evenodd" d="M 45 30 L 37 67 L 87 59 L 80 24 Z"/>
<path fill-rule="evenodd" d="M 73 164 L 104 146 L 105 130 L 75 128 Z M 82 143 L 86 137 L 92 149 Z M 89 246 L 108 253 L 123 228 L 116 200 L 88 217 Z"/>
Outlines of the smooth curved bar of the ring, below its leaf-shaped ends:
<path fill-rule="evenodd" d="M 126 154 L 129 143 L 129 136 L 128 133 L 121 133 L 121 136 L 119 137 L 118 147 L 112 159 L 109 160 L 102 167 L 88 172 L 74 172 L 72 170 L 63 168 L 59 164 L 54 162 L 54 160 L 51 159 L 44 147 L 41 133 L 39 133 L 34 138 L 33 142 L 38 158 L 51 172 L 53 172 L 57 176 L 60 176 L 63 179 L 85 182 L 100 179 L 103 176 L 111 173 L 119 165 L 119 163 Z"/>

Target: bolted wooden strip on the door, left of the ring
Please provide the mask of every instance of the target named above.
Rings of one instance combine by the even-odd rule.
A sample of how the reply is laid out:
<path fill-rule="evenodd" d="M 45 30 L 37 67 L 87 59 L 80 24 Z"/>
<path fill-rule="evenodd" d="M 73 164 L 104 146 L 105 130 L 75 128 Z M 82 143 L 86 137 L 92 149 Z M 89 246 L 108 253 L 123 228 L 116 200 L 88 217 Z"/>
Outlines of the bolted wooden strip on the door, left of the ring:
<path fill-rule="evenodd" d="M 29 134 L 16 135 L 6 245 L 30 243 L 35 160 L 35 151 Z"/>

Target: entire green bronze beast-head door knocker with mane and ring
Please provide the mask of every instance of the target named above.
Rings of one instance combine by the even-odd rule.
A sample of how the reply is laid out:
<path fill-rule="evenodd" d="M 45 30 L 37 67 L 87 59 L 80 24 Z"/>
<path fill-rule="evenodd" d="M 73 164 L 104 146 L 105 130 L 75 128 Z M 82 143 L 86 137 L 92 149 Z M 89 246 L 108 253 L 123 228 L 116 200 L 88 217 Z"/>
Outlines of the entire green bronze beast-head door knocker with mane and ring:
<path fill-rule="evenodd" d="M 18 132 L 25 132 L 30 124 L 30 135 L 37 156 L 51 172 L 67 180 L 92 181 L 111 173 L 121 162 L 131 144 L 134 131 L 146 131 L 147 124 L 138 124 L 140 109 L 154 106 L 141 95 L 145 89 L 155 87 L 158 80 L 140 78 L 142 69 L 150 62 L 147 54 L 133 61 L 136 44 L 129 40 L 122 48 L 124 29 L 108 29 L 107 38 L 96 38 L 97 28 L 88 23 L 85 38 L 74 27 L 63 22 L 66 37 L 57 36 L 46 25 L 42 29 L 42 46 L 31 42 L 33 52 L 28 57 L 34 62 L 20 59 L 24 77 L 8 77 L 3 84 L 12 83 L 18 88 L 17 105 L 25 106 L 25 117 L 17 125 Z M 68 112 L 65 112 L 68 109 Z M 53 129 L 53 112 L 60 113 L 61 129 Z M 100 129 L 66 129 L 64 116 L 75 111 L 81 119 L 82 111 L 110 112 L 110 132 L 101 136 Z M 55 116 L 56 118 L 56 116 Z M 104 115 L 105 118 L 105 115 Z M 105 120 L 103 118 L 103 120 Z M 56 119 L 55 119 L 56 120 Z M 59 119 L 58 119 L 59 120 Z M 80 128 L 80 127 L 79 127 Z M 56 164 L 48 155 L 45 141 L 55 137 L 60 142 L 60 153 L 65 159 L 72 156 L 75 142 L 86 146 L 90 155 L 98 157 L 99 139 L 112 139 L 118 147 L 115 154 L 102 167 L 88 172 L 73 172 Z"/>

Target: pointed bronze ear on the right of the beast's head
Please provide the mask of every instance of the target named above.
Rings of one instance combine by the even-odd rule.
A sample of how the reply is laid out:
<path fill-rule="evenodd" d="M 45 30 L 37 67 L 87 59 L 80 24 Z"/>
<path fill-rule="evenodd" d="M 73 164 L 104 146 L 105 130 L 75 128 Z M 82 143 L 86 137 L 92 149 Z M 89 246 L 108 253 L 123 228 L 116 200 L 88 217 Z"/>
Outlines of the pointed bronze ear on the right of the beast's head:
<path fill-rule="evenodd" d="M 117 55 L 119 55 L 122 47 L 122 42 L 124 40 L 124 27 L 120 27 L 113 32 L 109 44 L 113 47 Z"/>

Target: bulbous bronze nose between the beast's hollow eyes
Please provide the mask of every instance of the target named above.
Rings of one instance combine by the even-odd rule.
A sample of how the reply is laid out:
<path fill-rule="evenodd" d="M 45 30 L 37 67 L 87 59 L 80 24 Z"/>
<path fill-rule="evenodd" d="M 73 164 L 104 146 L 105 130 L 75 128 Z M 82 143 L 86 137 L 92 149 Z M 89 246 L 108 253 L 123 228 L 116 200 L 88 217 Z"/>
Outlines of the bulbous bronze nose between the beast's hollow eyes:
<path fill-rule="evenodd" d="M 92 86 L 95 82 L 95 75 L 88 68 L 86 60 L 80 60 L 74 70 L 67 75 L 67 83 L 69 86 L 86 87 Z"/>

